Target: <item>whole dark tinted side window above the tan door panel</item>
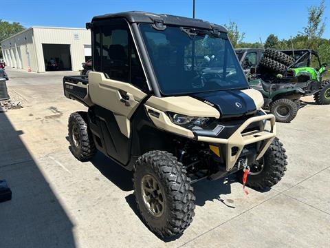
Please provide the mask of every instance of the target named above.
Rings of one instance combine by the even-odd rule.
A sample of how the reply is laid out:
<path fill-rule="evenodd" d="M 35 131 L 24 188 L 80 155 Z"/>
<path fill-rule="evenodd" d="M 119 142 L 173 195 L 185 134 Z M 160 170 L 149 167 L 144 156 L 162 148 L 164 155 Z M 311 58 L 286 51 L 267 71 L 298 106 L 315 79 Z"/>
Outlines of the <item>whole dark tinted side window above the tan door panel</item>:
<path fill-rule="evenodd" d="M 94 70 L 108 79 L 131 83 L 148 91 L 146 77 L 126 21 L 114 20 L 115 25 L 96 25 L 93 30 Z"/>

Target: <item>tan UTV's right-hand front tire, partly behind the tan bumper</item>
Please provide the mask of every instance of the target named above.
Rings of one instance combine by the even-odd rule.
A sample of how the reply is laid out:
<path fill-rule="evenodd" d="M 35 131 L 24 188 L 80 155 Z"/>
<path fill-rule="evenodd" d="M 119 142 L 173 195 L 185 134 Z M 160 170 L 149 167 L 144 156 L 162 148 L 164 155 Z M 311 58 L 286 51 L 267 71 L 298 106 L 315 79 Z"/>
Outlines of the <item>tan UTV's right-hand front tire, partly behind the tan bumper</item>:
<path fill-rule="evenodd" d="M 287 170 L 287 155 L 283 144 L 274 138 L 263 157 L 250 166 L 246 186 L 263 190 L 276 185 Z M 242 183 L 243 170 L 237 174 Z"/>

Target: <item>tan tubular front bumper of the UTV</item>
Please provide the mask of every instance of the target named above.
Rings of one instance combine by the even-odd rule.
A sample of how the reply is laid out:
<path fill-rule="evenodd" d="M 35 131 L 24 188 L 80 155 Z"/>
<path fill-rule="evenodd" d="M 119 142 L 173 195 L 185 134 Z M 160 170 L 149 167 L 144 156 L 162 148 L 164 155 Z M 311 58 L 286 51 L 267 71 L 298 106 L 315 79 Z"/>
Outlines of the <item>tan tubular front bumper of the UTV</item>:
<path fill-rule="evenodd" d="M 251 131 L 244 132 L 244 130 L 254 122 L 270 121 L 270 131 Z M 210 143 L 210 145 L 225 145 L 225 169 L 232 170 L 236 165 L 237 160 L 241 156 L 243 148 L 252 143 L 261 143 L 259 145 L 258 156 L 256 160 L 261 158 L 267 151 L 276 136 L 275 116 L 272 114 L 254 116 L 245 121 L 228 139 L 214 138 L 207 136 L 198 136 L 198 141 Z M 235 152 L 233 152 L 235 150 Z"/>

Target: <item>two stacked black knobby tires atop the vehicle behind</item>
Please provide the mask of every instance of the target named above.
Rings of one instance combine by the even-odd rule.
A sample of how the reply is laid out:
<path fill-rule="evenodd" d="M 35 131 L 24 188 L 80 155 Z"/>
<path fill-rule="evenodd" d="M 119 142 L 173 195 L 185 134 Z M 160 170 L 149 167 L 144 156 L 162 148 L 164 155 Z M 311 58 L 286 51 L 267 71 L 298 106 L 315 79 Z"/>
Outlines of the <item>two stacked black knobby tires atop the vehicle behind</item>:
<path fill-rule="evenodd" d="M 259 65 L 271 72 L 284 74 L 287 67 L 292 63 L 294 63 L 292 56 L 272 48 L 267 48 Z"/>

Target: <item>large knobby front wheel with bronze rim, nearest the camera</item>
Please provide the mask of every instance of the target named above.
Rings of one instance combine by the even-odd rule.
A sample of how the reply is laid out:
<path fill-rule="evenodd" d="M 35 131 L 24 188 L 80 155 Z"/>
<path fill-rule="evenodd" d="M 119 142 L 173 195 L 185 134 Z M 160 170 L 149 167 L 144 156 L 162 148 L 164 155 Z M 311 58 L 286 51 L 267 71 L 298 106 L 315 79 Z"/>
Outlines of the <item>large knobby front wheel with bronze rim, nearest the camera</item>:
<path fill-rule="evenodd" d="M 144 223 L 162 238 L 182 234 L 195 216 L 195 196 L 183 165 L 168 152 L 151 151 L 137 159 L 133 172 Z"/>

